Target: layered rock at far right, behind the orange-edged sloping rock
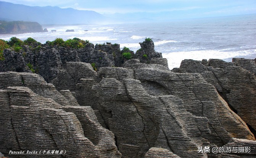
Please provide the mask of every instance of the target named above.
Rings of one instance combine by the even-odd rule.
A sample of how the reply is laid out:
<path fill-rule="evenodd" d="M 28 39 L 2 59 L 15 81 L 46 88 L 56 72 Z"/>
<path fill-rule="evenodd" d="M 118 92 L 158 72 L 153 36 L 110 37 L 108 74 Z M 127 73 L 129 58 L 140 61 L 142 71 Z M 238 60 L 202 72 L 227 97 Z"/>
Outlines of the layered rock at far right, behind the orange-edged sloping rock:
<path fill-rule="evenodd" d="M 219 59 L 201 62 L 182 61 L 176 72 L 200 73 L 216 87 L 217 92 L 256 134 L 256 77 L 255 60 L 234 58 L 233 63 Z"/>

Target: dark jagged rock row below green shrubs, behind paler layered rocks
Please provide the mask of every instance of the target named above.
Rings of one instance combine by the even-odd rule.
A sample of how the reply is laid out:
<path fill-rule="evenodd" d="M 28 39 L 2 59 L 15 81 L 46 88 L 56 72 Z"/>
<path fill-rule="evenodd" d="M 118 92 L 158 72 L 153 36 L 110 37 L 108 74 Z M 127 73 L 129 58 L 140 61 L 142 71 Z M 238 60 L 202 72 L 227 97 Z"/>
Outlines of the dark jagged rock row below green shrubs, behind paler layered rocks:
<path fill-rule="evenodd" d="M 157 55 L 155 52 L 153 41 L 147 43 L 143 48 L 148 51 L 152 58 L 152 63 L 161 64 L 167 67 L 167 60 Z M 63 68 L 66 68 L 67 62 L 85 62 L 94 63 L 95 70 L 98 71 L 101 67 L 120 67 L 127 61 L 122 56 L 123 51 L 120 50 L 119 44 L 86 44 L 84 48 L 72 49 L 68 47 L 42 45 L 39 48 L 30 48 L 22 46 L 21 52 L 14 52 L 11 49 L 5 49 L 3 53 L 5 60 L 0 61 L 0 72 L 16 71 L 16 72 L 32 72 L 27 66 L 32 65 L 35 73 L 43 76 L 45 81 L 51 82 Z M 133 56 L 134 53 L 130 51 Z"/>

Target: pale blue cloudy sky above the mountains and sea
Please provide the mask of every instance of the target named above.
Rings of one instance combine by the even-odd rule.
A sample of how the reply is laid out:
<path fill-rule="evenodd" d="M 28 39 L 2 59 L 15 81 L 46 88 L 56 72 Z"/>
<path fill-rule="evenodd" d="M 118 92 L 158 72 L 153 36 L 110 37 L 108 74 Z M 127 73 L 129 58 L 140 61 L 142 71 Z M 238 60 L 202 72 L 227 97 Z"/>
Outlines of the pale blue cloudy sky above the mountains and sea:
<path fill-rule="evenodd" d="M 188 19 L 256 14 L 256 0 L 3 0 L 28 6 L 92 10 L 105 16 Z"/>

